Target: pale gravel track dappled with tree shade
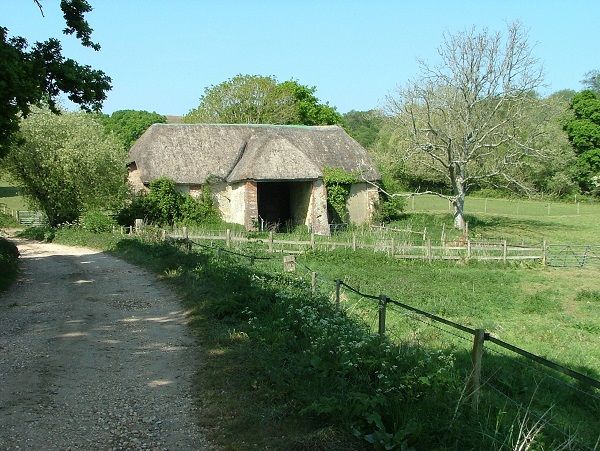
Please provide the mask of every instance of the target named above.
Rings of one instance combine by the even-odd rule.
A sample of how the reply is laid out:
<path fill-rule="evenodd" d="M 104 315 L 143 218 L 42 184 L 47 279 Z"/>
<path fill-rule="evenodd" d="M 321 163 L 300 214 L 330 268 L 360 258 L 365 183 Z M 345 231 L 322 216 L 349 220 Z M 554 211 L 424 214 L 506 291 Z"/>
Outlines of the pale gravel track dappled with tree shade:
<path fill-rule="evenodd" d="M 0 450 L 211 449 L 178 299 L 97 251 L 20 241 L 0 295 Z"/>

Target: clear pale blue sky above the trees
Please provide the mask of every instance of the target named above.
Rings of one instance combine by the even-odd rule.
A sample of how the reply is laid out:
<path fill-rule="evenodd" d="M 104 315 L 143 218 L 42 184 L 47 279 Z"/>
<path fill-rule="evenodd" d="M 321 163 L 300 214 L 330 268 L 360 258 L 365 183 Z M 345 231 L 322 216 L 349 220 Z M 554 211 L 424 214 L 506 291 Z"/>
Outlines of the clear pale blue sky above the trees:
<path fill-rule="evenodd" d="M 600 2 L 90 0 L 99 53 L 64 28 L 59 0 L 0 0 L 0 25 L 30 42 L 61 38 L 64 54 L 113 79 L 104 111 L 185 114 L 206 86 L 236 74 L 294 78 L 340 112 L 381 107 L 385 96 L 435 62 L 445 31 L 502 30 L 519 20 L 545 68 L 547 88 L 581 89 L 600 69 Z"/>

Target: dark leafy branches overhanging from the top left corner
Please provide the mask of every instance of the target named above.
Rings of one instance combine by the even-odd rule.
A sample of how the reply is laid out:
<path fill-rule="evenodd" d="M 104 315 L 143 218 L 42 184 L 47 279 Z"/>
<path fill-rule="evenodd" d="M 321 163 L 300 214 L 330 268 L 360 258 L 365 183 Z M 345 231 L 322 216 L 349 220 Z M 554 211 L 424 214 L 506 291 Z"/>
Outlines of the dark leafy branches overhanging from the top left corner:
<path fill-rule="evenodd" d="M 40 2 L 35 3 L 41 9 Z M 87 0 L 61 0 L 60 7 L 67 25 L 64 33 L 99 50 L 84 18 L 92 10 Z M 44 101 L 56 113 L 56 97 L 62 92 L 85 110 L 99 110 L 110 81 L 104 72 L 65 58 L 57 39 L 29 47 L 24 38 L 9 37 L 8 29 L 0 27 L 0 157 L 8 152 L 19 118 L 26 117 L 32 105 Z"/>

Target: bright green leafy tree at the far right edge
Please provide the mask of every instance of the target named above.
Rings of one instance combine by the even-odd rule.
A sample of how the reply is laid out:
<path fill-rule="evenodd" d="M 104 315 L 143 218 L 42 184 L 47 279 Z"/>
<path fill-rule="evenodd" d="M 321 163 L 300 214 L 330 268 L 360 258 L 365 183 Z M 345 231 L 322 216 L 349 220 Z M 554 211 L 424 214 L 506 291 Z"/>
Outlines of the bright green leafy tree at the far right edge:
<path fill-rule="evenodd" d="M 571 102 L 573 116 L 565 123 L 577 155 L 577 180 L 584 192 L 598 190 L 600 177 L 600 95 L 582 91 Z"/>

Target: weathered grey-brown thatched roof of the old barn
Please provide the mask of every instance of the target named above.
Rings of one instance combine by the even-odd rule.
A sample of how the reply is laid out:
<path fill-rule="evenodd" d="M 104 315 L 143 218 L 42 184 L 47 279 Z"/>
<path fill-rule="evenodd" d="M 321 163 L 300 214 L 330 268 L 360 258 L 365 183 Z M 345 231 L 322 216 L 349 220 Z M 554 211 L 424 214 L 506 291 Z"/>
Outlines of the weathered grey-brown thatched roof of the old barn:
<path fill-rule="evenodd" d="M 324 167 L 379 173 L 366 150 L 338 126 L 154 124 L 129 151 L 142 181 L 166 176 L 202 184 L 239 180 L 314 180 Z"/>

